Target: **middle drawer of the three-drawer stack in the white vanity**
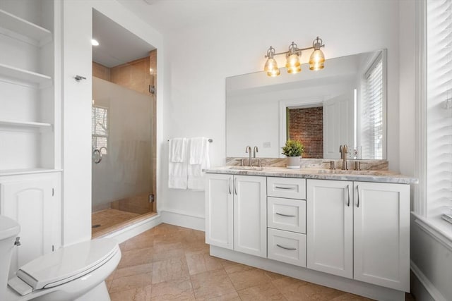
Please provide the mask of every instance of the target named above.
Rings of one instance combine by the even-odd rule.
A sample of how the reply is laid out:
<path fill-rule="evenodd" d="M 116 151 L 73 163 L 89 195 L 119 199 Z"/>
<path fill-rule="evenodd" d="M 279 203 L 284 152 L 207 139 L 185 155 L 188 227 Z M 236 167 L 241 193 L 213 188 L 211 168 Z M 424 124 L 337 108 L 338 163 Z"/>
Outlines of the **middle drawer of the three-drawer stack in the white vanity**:
<path fill-rule="evenodd" d="M 306 233 L 306 201 L 267 197 L 267 226 Z"/>

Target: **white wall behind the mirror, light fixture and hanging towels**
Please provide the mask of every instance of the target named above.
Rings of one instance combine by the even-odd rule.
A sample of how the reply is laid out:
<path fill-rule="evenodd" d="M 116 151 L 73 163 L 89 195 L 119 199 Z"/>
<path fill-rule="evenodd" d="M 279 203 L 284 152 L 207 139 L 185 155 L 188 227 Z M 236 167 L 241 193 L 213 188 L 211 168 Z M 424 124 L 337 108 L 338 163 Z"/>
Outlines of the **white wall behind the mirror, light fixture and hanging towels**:
<path fill-rule="evenodd" d="M 289 11 L 296 13 L 289 16 Z M 225 78 L 262 70 L 270 45 L 277 52 L 292 41 L 308 47 L 319 35 L 327 58 L 388 49 L 388 160 L 398 171 L 398 18 L 393 0 L 268 1 L 216 23 L 170 32 L 165 35 L 164 139 L 213 138 L 211 163 L 224 164 Z M 167 145 L 160 163 L 162 209 L 202 218 L 202 192 L 167 188 Z"/>

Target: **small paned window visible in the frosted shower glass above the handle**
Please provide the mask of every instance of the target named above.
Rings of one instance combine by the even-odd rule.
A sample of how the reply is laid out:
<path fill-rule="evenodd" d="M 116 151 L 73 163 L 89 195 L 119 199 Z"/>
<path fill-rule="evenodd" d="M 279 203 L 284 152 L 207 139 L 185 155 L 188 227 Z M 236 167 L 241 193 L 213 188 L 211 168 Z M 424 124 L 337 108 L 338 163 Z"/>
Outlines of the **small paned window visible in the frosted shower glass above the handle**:
<path fill-rule="evenodd" d="M 102 106 L 93 106 L 91 111 L 91 125 L 93 149 L 99 149 L 102 154 L 107 154 L 108 109 Z"/>

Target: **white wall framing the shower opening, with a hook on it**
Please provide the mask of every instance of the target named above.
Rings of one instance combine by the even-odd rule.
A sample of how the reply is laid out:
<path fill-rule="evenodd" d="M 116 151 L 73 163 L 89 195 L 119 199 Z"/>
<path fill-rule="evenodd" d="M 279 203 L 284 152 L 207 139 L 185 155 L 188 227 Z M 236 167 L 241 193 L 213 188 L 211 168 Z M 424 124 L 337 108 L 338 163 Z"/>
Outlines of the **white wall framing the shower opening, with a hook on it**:
<path fill-rule="evenodd" d="M 92 10 L 114 20 L 159 50 L 157 87 L 163 87 L 162 35 L 117 1 L 67 0 L 63 2 L 63 244 L 91 237 L 91 44 Z M 75 75 L 87 78 L 81 82 Z M 157 92 L 157 144 L 162 137 L 163 91 Z M 157 156 L 160 149 L 157 147 Z M 160 162 L 157 161 L 157 174 Z M 158 178 L 157 178 L 158 180 Z M 157 185 L 157 195 L 160 188 Z M 158 206 L 158 203 L 157 203 Z"/>

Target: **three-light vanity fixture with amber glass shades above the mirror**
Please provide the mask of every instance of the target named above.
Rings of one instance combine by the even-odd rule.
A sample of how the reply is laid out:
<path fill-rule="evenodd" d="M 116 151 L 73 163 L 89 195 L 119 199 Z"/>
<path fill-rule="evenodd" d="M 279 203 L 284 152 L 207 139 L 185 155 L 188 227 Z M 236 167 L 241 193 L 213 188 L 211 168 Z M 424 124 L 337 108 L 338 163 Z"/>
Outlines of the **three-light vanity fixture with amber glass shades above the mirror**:
<path fill-rule="evenodd" d="M 286 56 L 286 68 L 287 73 L 295 74 L 299 73 L 302 70 L 302 64 L 299 61 L 299 57 L 302 56 L 302 51 L 308 49 L 314 49 L 309 58 L 309 70 L 321 70 L 323 69 L 323 63 L 325 62 L 325 56 L 323 55 L 323 51 L 321 48 L 325 47 L 321 38 L 316 37 L 312 42 L 312 47 L 299 49 L 295 42 L 292 42 L 289 46 L 289 50 L 285 52 L 280 52 L 278 54 L 275 53 L 275 49 L 270 46 L 267 50 L 267 58 L 266 65 L 263 67 L 263 70 L 266 71 L 268 76 L 278 76 L 280 75 L 280 69 L 278 68 L 278 63 L 276 63 L 274 56 L 278 56 L 279 54 L 285 54 Z"/>

